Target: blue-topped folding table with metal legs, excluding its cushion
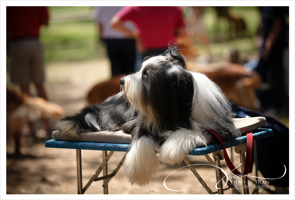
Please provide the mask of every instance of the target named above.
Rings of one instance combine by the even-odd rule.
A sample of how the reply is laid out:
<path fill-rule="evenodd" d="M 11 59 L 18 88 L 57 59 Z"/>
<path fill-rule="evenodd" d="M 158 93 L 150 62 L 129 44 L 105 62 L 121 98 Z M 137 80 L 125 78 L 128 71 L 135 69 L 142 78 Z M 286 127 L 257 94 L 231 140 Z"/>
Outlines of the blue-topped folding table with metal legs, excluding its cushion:
<path fill-rule="evenodd" d="M 272 129 L 257 129 L 256 131 L 253 131 L 253 140 L 262 139 L 265 137 L 272 136 Z M 235 147 L 235 152 L 240 154 L 240 161 L 243 163 L 241 165 L 241 170 L 243 173 L 244 170 L 244 163 L 245 163 L 245 153 L 246 153 L 246 140 L 247 136 L 243 135 L 239 138 L 232 138 L 224 141 L 225 148 Z M 53 148 L 65 148 L 65 149 L 76 149 L 76 159 L 77 159 L 77 181 L 78 181 L 78 194 L 84 194 L 87 188 L 90 186 L 90 184 L 93 181 L 99 181 L 103 180 L 103 188 L 104 188 L 104 194 L 108 194 L 108 182 L 111 180 L 113 176 L 116 175 L 120 167 L 123 165 L 124 157 L 117 165 L 117 168 L 113 170 L 112 173 L 108 174 L 108 160 L 113 155 L 115 151 L 119 152 L 128 152 L 128 149 L 130 147 L 130 144 L 113 144 L 113 143 L 97 143 L 97 142 L 72 142 L 72 141 L 60 141 L 51 139 L 45 142 L 45 147 L 53 147 Z M 103 159 L 100 167 L 96 170 L 95 174 L 90 178 L 88 183 L 82 187 L 82 162 L 81 162 L 81 149 L 87 149 L 87 150 L 99 150 L 102 151 Z M 209 161 L 211 165 L 217 166 L 220 168 L 220 160 L 224 159 L 223 156 L 223 150 L 222 150 L 221 144 L 210 144 L 207 147 L 197 147 L 192 149 L 192 151 L 189 153 L 189 155 L 204 155 L 206 159 Z M 107 154 L 107 151 L 110 151 Z M 212 153 L 213 160 L 208 155 Z M 201 185 L 205 188 L 205 190 L 209 194 L 223 194 L 225 190 L 232 189 L 235 194 L 241 194 L 237 188 L 233 184 L 230 183 L 230 181 L 226 180 L 225 174 L 219 169 L 215 168 L 216 173 L 216 181 L 217 181 L 217 187 L 220 189 L 217 189 L 217 191 L 212 191 L 207 185 L 206 182 L 201 178 L 201 176 L 198 174 L 198 172 L 195 170 L 193 165 L 190 164 L 190 162 L 187 160 L 187 158 L 184 158 L 185 164 L 190 168 L 190 170 L 193 172 L 195 177 L 198 179 L 198 181 L 201 183 Z M 103 171 L 103 176 L 98 177 L 100 172 Z M 248 180 L 247 176 L 242 177 L 243 178 L 243 194 L 249 194 L 248 189 Z M 227 188 L 223 188 L 223 182 L 222 179 L 227 182 Z"/>

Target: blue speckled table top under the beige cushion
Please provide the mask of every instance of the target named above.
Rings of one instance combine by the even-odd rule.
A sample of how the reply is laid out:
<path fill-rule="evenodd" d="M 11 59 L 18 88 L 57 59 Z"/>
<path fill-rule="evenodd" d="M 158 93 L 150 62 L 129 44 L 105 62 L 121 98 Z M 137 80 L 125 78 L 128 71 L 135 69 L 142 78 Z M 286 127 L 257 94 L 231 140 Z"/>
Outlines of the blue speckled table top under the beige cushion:
<path fill-rule="evenodd" d="M 258 140 L 272 136 L 272 129 L 257 129 L 253 131 L 253 140 Z M 224 141 L 225 148 L 234 147 L 246 143 L 247 136 L 243 135 L 238 138 L 232 138 Z M 60 140 L 47 140 L 45 147 L 63 148 L 63 149 L 87 149 L 87 150 L 100 150 L 100 151 L 121 151 L 128 152 L 130 144 L 113 144 L 113 143 L 97 143 L 97 142 L 73 142 L 73 141 L 60 141 Z M 192 149 L 189 155 L 206 155 L 212 152 L 222 150 L 221 144 L 210 144 L 207 147 L 197 147 Z"/>

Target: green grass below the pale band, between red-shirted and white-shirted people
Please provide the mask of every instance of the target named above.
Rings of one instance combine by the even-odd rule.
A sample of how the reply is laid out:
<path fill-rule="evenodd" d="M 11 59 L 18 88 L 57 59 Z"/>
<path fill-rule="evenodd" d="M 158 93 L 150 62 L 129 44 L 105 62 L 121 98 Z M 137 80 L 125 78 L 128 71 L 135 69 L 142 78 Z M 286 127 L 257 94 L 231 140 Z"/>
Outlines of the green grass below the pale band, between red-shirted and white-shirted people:
<path fill-rule="evenodd" d="M 77 61 L 105 56 L 97 38 L 97 28 L 90 20 L 52 23 L 43 29 L 41 37 L 45 60 Z"/>

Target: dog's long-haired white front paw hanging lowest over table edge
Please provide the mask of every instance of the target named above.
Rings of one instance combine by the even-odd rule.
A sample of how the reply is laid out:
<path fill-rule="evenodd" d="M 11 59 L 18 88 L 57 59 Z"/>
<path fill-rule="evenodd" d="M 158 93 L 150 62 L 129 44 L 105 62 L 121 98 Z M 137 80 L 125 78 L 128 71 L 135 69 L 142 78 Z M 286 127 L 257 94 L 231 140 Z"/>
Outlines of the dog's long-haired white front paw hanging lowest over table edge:
<path fill-rule="evenodd" d="M 131 145 L 124 161 L 124 173 L 131 185 L 147 186 L 160 168 L 152 138 L 140 137 Z"/>

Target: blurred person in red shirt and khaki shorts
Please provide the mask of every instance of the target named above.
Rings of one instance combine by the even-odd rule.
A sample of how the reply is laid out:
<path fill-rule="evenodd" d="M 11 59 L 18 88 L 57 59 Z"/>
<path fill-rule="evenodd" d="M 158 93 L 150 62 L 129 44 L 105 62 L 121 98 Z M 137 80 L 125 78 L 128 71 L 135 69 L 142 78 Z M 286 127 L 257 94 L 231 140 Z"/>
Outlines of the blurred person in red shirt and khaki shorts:
<path fill-rule="evenodd" d="M 22 92 L 31 94 L 29 84 L 34 82 L 38 95 L 45 100 L 43 48 L 39 41 L 40 27 L 47 26 L 49 12 L 45 6 L 7 6 L 7 51 L 10 56 L 10 81 L 19 84 Z M 30 123 L 31 134 L 34 133 Z M 48 130 L 48 121 L 44 119 Z"/>

